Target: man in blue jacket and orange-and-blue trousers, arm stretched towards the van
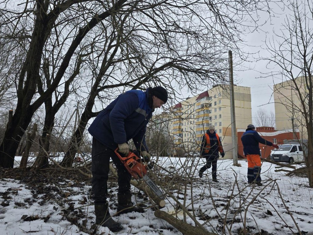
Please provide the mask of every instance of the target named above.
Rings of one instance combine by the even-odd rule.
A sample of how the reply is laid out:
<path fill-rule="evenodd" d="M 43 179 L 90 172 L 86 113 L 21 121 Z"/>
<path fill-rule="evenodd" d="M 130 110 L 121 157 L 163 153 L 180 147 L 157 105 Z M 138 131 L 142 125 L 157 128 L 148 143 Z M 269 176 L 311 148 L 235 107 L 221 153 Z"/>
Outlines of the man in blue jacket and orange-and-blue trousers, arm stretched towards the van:
<path fill-rule="evenodd" d="M 259 143 L 268 146 L 273 146 L 278 149 L 277 144 L 273 144 L 262 138 L 258 132 L 255 131 L 254 125 L 248 125 L 246 132 L 241 136 L 241 142 L 244 146 L 244 155 L 248 160 L 248 183 L 256 183 L 262 186 L 261 183 L 261 153 Z"/>

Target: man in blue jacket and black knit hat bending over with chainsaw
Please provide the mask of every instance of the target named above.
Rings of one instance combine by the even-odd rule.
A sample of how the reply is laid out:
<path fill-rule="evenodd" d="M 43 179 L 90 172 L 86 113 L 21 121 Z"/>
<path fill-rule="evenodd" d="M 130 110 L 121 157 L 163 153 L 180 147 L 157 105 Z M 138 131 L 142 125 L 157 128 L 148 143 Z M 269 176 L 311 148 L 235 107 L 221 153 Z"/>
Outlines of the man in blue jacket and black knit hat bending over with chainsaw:
<path fill-rule="evenodd" d="M 91 172 L 92 192 L 95 203 L 96 224 L 112 232 L 123 229 L 109 213 L 106 201 L 110 158 L 117 169 L 117 212 L 143 212 L 131 202 L 131 175 L 114 153 L 118 147 L 122 154 L 129 154 L 128 141 L 133 140 L 141 156 L 150 160 L 146 145 L 146 126 L 155 108 L 167 102 L 167 91 L 161 86 L 149 87 L 145 92 L 130 90 L 119 95 L 102 110 L 88 128 L 92 135 Z"/>

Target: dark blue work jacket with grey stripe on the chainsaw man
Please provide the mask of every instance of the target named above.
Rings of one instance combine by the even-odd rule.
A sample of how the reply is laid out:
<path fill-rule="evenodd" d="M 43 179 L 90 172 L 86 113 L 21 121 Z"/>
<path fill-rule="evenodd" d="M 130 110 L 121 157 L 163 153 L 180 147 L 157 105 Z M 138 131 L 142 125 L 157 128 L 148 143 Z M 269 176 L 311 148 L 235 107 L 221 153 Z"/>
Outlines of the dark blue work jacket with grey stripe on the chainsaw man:
<path fill-rule="evenodd" d="M 148 151 L 146 126 L 154 111 L 148 104 L 148 89 L 119 95 L 91 123 L 88 131 L 92 137 L 113 150 L 133 139 L 137 149 Z"/>

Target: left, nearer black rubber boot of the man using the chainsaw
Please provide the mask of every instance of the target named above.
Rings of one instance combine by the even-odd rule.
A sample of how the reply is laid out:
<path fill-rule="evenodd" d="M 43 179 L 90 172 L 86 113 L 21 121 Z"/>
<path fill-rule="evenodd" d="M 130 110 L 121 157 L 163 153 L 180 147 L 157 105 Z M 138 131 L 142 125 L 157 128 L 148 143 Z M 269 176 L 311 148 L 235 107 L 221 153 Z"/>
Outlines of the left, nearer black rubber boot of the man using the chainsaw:
<path fill-rule="evenodd" d="M 108 204 L 108 202 L 105 204 L 95 204 L 96 224 L 108 227 L 112 232 L 118 232 L 122 230 L 123 227 L 110 216 Z"/>

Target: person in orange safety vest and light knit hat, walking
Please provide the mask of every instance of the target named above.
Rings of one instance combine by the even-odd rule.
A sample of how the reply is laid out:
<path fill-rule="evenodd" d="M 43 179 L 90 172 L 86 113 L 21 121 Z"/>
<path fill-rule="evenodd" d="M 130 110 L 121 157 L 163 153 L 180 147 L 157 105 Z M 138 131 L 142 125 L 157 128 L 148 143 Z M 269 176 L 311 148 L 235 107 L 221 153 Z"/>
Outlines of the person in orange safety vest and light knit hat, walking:
<path fill-rule="evenodd" d="M 211 168 L 212 165 L 212 178 L 214 182 L 218 182 L 217 180 L 217 159 L 218 152 L 221 153 L 221 157 L 225 156 L 221 139 L 218 134 L 215 133 L 215 128 L 213 125 L 210 125 L 207 132 L 202 137 L 201 143 L 201 156 L 205 157 L 207 162 L 206 164 L 200 168 L 199 177 L 202 178 L 203 172 L 207 169 Z"/>

